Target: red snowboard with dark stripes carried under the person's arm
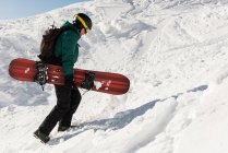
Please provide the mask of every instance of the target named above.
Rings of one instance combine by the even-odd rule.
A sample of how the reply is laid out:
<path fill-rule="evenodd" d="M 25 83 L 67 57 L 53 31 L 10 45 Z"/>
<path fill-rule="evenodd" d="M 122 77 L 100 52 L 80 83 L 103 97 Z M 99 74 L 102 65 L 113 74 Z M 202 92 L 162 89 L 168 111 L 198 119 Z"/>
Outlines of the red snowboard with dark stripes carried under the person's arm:
<path fill-rule="evenodd" d="M 63 85 L 64 75 L 62 67 L 47 64 L 46 67 L 46 83 Z M 130 87 L 130 80 L 119 73 L 100 72 L 83 69 L 74 69 L 74 83 L 77 87 L 82 87 L 82 82 L 85 79 L 87 72 L 94 73 L 94 87 L 92 91 L 121 95 L 125 94 Z M 36 61 L 17 58 L 13 59 L 9 66 L 9 74 L 19 81 L 34 82 L 34 76 L 37 73 Z"/>

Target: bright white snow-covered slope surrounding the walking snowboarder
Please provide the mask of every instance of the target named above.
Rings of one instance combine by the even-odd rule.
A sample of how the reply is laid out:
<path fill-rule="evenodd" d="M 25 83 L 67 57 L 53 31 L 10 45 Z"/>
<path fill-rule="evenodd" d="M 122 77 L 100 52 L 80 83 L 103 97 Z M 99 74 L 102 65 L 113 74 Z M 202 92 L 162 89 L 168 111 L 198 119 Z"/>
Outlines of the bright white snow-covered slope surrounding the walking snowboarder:
<path fill-rule="evenodd" d="M 44 31 L 87 13 L 75 68 L 131 80 L 125 95 L 88 92 L 79 128 L 33 137 L 56 105 L 52 85 L 13 80 L 37 60 Z M 228 153 L 228 0 L 92 0 L 0 21 L 0 153 Z M 85 91 L 82 91 L 82 94 Z"/>

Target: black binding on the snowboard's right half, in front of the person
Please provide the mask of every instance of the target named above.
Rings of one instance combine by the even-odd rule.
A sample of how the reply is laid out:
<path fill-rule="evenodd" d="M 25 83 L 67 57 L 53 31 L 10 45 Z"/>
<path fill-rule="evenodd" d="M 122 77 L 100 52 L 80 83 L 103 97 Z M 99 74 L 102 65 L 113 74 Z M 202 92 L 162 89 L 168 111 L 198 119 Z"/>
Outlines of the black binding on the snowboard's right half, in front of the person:
<path fill-rule="evenodd" d="M 94 89 L 95 87 L 94 80 L 95 80 L 95 73 L 89 71 L 85 72 L 85 78 L 81 83 L 81 87 L 86 89 L 88 91 Z"/>

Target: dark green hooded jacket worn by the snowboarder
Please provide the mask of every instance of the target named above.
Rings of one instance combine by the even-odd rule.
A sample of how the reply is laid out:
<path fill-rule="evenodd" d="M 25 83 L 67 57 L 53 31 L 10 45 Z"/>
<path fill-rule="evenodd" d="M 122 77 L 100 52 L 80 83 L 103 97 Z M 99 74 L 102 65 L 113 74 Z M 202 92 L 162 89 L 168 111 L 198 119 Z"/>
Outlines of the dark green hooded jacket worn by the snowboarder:
<path fill-rule="evenodd" d="M 77 42 L 81 38 L 79 30 L 70 22 L 62 27 L 68 30 L 60 34 L 55 46 L 55 57 L 61 59 L 64 76 L 73 75 L 73 66 L 79 57 Z"/>

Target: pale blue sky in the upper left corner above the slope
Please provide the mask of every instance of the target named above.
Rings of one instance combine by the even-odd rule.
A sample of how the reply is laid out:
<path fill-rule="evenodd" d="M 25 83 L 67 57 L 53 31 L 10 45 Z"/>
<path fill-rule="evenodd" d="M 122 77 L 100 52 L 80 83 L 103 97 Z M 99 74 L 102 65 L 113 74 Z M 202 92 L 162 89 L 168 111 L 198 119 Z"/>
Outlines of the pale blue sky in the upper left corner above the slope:
<path fill-rule="evenodd" d="M 32 16 L 86 0 L 0 0 L 0 20 Z"/>

